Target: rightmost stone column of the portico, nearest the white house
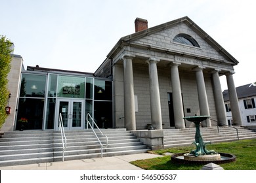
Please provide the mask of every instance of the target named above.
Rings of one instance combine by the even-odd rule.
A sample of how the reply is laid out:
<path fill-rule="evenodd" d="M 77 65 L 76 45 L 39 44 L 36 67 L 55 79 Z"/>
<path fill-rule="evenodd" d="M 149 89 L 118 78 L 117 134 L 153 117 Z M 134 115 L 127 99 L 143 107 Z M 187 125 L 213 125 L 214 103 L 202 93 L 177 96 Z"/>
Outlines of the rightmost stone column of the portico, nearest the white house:
<path fill-rule="evenodd" d="M 226 82 L 228 84 L 228 95 L 233 122 L 236 125 L 242 125 L 240 108 L 238 104 L 238 95 L 236 93 L 236 86 L 234 84 L 233 73 L 228 73 L 226 75 Z"/>

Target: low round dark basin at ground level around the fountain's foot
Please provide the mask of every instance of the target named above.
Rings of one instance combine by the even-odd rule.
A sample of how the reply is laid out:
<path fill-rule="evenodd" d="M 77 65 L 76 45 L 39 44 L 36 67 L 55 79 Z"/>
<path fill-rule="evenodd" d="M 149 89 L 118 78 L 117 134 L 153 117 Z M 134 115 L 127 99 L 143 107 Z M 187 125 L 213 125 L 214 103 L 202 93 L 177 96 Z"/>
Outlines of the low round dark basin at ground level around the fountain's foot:
<path fill-rule="evenodd" d="M 204 165 L 205 163 L 223 164 L 223 163 L 230 163 L 230 162 L 236 161 L 236 156 L 234 156 L 233 154 L 227 154 L 227 153 L 222 153 L 222 152 L 218 153 L 221 156 L 221 159 L 200 158 L 203 156 L 211 156 L 211 155 L 203 155 L 203 156 L 194 157 L 195 159 L 194 158 L 185 159 L 184 158 L 185 154 L 189 154 L 189 153 L 183 152 L 183 153 L 173 154 L 171 156 L 171 162 L 182 163 L 182 164 Z"/>

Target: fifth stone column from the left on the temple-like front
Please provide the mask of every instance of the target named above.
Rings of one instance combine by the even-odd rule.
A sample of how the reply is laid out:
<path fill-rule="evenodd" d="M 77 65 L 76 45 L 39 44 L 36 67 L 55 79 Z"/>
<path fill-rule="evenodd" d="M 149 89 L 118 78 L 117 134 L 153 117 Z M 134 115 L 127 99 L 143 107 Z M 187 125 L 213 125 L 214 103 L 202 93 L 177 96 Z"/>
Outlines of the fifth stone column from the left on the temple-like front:
<path fill-rule="evenodd" d="M 223 92 L 221 90 L 221 81 L 219 80 L 219 71 L 213 71 L 213 92 L 217 113 L 217 121 L 228 125 L 228 121 L 226 120 L 226 110 L 224 106 Z"/>

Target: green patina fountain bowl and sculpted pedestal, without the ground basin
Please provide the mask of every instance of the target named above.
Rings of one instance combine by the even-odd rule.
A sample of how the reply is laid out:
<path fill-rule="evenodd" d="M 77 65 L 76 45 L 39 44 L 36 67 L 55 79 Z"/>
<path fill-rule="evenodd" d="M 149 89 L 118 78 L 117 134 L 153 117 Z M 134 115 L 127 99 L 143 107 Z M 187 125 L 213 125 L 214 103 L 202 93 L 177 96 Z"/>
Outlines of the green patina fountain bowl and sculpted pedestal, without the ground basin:
<path fill-rule="evenodd" d="M 211 144 L 211 141 L 203 142 L 203 136 L 200 131 L 200 123 L 203 120 L 206 120 L 210 116 L 189 116 L 185 117 L 185 120 L 188 120 L 190 122 L 194 122 L 196 125 L 196 135 L 195 135 L 195 141 L 192 142 L 192 144 L 196 145 L 196 150 L 192 150 L 190 154 L 198 157 L 198 156 L 203 156 L 207 154 L 217 154 L 214 150 L 207 150 L 205 145 L 206 144 Z"/>

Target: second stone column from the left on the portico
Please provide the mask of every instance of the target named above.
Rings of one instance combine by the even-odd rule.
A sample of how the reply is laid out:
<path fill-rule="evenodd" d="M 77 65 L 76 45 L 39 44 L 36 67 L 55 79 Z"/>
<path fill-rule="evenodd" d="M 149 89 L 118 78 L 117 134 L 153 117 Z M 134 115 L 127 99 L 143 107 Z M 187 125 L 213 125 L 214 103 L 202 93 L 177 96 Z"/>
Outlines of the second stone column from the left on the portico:
<path fill-rule="evenodd" d="M 161 122 L 161 103 L 160 92 L 158 84 L 158 69 L 156 63 L 159 59 L 149 58 L 146 63 L 149 65 L 149 77 L 150 77 L 150 108 L 151 108 L 151 120 L 152 126 L 155 129 L 162 129 Z"/>

